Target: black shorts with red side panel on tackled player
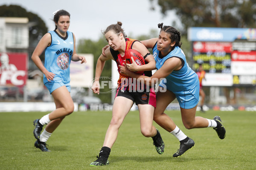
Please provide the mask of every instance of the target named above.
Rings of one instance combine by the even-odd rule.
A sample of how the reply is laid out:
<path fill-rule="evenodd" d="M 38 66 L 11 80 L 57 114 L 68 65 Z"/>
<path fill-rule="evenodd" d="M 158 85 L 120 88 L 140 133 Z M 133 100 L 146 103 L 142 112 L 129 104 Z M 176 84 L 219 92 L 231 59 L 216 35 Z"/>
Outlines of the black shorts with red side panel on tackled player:
<path fill-rule="evenodd" d="M 147 92 L 146 89 L 143 92 L 129 92 L 128 90 L 122 91 L 117 89 L 116 97 L 117 96 L 123 96 L 127 99 L 131 99 L 136 105 L 148 104 L 154 106 L 155 108 L 157 103 L 154 88 L 150 88 L 149 92 Z"/>

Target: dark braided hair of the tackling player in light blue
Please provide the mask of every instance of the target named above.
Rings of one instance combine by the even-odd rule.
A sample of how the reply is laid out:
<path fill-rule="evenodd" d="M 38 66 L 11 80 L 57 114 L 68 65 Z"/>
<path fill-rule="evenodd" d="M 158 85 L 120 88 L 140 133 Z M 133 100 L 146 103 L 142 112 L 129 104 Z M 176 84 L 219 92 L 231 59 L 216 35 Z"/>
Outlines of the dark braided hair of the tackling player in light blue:
<path fill-rule="evenodd" d="M 180 32 L 172 27 L 172 26 L 163 26 L 163 23 L 158 24 L 158 28 L 161 29 L 161 31 L 164 31 L 168 34 L 170 34 L 170 39 L 172 42 L 175 42 L 175 46 L 181 47 L 182 42 L 180 42 Z"/>

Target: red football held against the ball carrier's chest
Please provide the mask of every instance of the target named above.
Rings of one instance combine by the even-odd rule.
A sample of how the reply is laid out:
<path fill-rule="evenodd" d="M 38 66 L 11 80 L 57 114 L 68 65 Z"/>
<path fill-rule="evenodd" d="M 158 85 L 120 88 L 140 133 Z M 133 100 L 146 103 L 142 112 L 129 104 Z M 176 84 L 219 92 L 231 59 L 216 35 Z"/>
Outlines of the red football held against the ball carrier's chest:
<path fill-rule="evenodd" d="M 128 51 L 125 52 L 125 60 L 127 64 L 131 64 L 132 60 L 131 57 L 133 57 L 134 61 L 137 65 L 144 65 L 145 60 L 144 57 L 136 50 L 134 49 L 128 49 Z M 137 71 L 137 74 L 143 74 L 144 71 Z"/>

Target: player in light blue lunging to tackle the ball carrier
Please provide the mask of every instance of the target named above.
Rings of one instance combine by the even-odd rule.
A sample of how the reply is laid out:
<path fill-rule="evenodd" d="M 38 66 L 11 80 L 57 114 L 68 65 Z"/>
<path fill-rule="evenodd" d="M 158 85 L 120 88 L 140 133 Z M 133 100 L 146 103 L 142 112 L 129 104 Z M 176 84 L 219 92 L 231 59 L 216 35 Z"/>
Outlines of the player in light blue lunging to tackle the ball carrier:
<path fill-rule="evenodd" d="M 132 72 L 137 71 L 138 65 L 126 64 L 127 67 L 121 66 L 121 73 L 142 78 L 145 83 L 154 83 L 154 79 L 165 78 L 156 90 L 157 106 L 154 110 L 154 121 L 179 139 L 180 147 L 173 155 L 177 157 L 193 147 L 195 142 L 164 113 L 167 106 L 176 98 L 180 105 L 183 125 L 187 129 L 213 127 L 220 139 L 225 138 L 226 130 L 219 116 L 213 119 L 195 116 L 199 101 L 199 80 L 197 74 L 186 63 L 185 54 L 180 49 L 180 32 L 171 26 L 163 26 L 163 23 L 158 24 L 158 27 L 161 28 L 158 38 L 141 41 L 147 48 L 153 49 L 157 71 L 151 77 L 146 77 Z"/>

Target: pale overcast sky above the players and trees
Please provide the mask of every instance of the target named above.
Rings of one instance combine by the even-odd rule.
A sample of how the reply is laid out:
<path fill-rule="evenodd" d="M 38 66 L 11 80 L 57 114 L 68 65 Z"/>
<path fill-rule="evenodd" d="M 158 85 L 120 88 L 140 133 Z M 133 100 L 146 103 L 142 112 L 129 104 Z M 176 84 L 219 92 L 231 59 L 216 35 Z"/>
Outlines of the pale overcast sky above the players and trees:
<path fill-rule="evenodd" d="M 89 38 L 98 40 L 103 36 L 101 31 L 109 25 L 121 21 L 122 28 L 128 37 L 135 38 L 141 34 L 149 34 L 151 29 L 157 30 L 158 23 L 171 25 L 175 20 L 171 11 L 165 17 L 160 7 L 150 10 L 149 0 L 1 0 L 2 5 L 19 5 L 27 11 L 38 14 L 49 30 L 55 28 L 53 12 L 64 9 L 70 13 L 70 28 L 76 40 Z"/>

